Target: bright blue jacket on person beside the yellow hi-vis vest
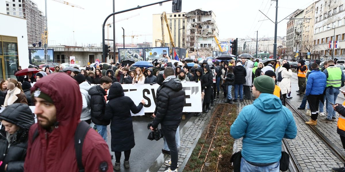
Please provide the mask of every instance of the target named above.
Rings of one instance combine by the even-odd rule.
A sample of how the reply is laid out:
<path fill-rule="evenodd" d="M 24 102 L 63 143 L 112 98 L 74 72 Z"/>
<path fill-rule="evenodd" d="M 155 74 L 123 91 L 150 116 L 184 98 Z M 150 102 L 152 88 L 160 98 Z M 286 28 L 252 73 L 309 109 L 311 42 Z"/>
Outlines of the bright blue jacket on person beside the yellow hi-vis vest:
<path fill-rule="evenodd" d="M 326 75 L 320 69 L 314 69 L 308 75 L 307 85 L 305 88 L 305 95 L 320 95 L 323 94 L 326 88 Z"/>

